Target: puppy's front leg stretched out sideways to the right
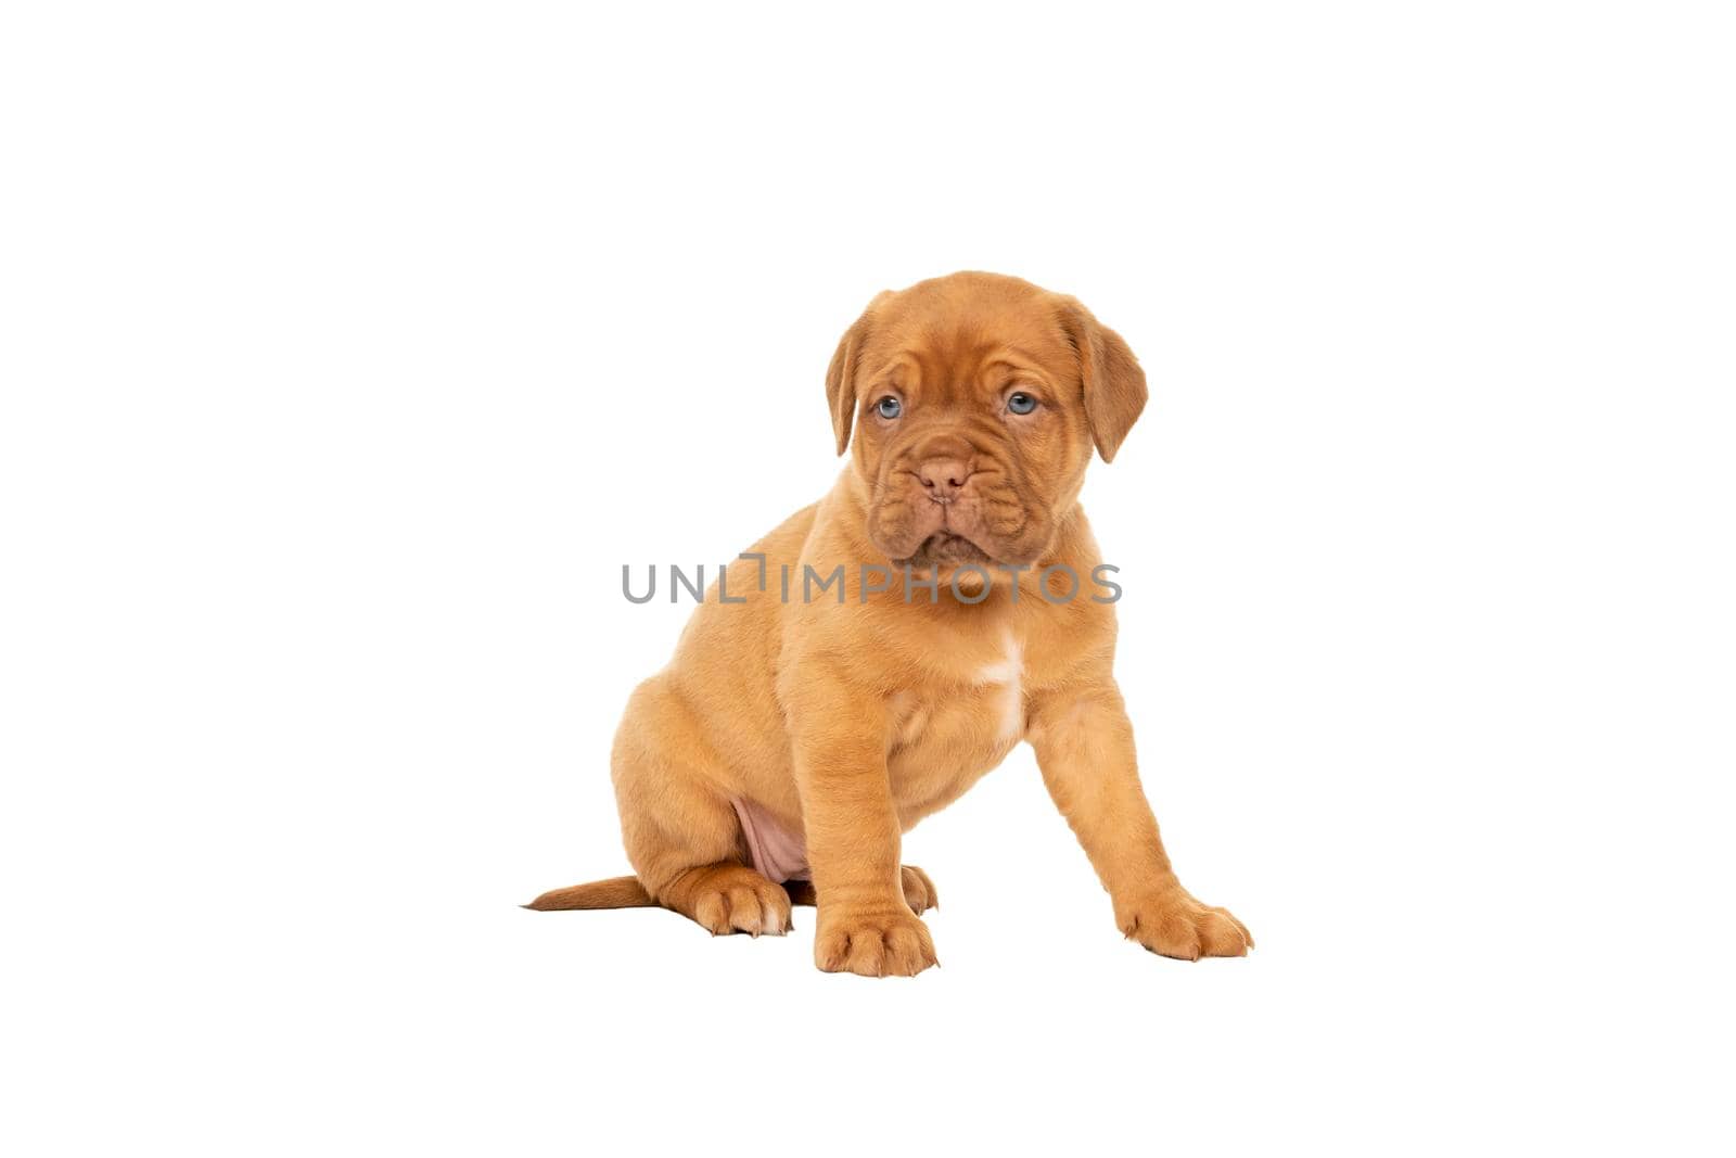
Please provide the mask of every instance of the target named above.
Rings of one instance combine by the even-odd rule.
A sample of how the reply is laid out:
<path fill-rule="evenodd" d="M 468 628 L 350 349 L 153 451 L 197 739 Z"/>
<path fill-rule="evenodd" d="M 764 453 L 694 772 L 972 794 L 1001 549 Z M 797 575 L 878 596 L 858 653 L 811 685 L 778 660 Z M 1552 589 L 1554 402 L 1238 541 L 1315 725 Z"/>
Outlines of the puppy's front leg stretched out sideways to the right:
<path fill-rule="evenodd" d="M 1186 960 L 1248 951 L 1246 925 L 1229 910 L 1201 905 L 1175 878 L 1139 785 L 1134 726 L 1113 681 L 1036 698 L 1028 738 L 1049 795 L 1109 891 L 1123 934 Z"/>

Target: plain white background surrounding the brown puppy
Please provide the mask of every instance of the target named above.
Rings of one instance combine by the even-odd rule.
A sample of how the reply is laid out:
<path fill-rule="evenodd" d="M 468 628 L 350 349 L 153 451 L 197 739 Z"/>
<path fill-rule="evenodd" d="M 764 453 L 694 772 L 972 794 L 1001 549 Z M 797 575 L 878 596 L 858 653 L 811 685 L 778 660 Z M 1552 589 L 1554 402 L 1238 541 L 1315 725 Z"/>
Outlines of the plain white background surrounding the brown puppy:
<path fill-rule="evenodd" d="M 12 5 L 10 1153 L 1729 1153 L 1719 5 Z M 1170 851 L 1026 750 L 906 842 L 943 969 L 663 911 L 608 781 L 835 476 L 868 299 L 1080 295 Z"/>

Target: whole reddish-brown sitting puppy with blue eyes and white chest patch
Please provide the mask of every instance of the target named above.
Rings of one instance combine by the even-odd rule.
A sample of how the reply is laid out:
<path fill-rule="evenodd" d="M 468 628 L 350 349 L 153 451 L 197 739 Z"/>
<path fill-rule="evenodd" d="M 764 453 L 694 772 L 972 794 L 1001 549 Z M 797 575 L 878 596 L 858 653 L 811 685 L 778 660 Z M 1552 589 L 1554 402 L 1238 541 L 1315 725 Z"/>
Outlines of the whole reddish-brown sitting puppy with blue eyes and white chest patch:
<path fill-rule="evenodd" d="M 1121 932 L 1246 953 L 1246 927 L 1170 870 L 1109 670 L 1115 608 L 1087 594 L 1104 569 L 1085 465 L 1146 405 L 1127 342 L 1071 297 L 960 273 L 877 297 L 826 399 L 840 455 L 856 431 L 849 469 L 727 568 L 627 705 L 613 771 L 635 877 L 528 908 L 661 905 L 781 934 L 818 903 L 821 969 L 922 972 L 936 892 L 899 833 L 1028 740 Z"/>

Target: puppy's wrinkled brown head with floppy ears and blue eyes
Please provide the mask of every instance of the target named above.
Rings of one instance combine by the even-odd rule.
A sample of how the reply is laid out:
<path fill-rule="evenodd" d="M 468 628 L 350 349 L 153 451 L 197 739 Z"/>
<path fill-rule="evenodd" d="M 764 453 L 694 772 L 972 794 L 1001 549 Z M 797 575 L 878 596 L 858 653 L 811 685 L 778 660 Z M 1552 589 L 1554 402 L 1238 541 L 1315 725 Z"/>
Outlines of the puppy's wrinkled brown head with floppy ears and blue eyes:
<path fill-rule="evenodd" d="M 896 566 L 1026 566 L 1059 531 L 1095 444 L 1146 405 L 1121 337 L 1078 300 L 957 273 L 880 293 L 826 372 L 838 453 L 868 491 L 868 536 Z"/>

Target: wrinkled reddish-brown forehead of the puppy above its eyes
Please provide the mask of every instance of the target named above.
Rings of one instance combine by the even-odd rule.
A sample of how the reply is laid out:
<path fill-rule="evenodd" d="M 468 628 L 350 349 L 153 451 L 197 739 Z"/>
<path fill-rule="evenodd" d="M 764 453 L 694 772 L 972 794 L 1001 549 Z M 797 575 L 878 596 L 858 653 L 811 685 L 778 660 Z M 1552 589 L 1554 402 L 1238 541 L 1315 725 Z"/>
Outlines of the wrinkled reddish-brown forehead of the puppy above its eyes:
<path fill-rule="evenodd" d="M 1049 295 L 898 293 L 877 306 L 861 370 L 906 392 L 998 391 L 1017 377 L 1062 387 L 1075 352 Z"/>

